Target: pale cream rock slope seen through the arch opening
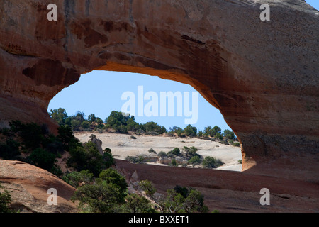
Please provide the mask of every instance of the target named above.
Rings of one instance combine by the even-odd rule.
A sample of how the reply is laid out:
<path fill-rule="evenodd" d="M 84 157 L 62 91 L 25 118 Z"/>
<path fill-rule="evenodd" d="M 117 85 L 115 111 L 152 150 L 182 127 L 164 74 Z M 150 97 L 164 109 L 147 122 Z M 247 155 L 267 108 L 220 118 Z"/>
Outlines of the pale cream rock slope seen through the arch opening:
<path fill-rule="evenodd" d="M 87 142 L 91 134 L 91 132 L 74 133 L 75 137 L 82 143 Z M 136 139 L 132 139 L 130 135 L 116 133 L 94 133 L 94 135 L 102 141 L 103 150 L 111 148 L 113 156 L 118 160 L 124 160 L 127 156 L 147 155 L 150 148 L 153 148 L 157 153 L 160 151 L 167 153 L 174 148 L 194 146 L 198 148 L 199 155 L 222 160 L 225 165 L 219 167 L 218 170 L 242 171 L 242 165 L 238 164 L 238 160 L 242 159 L 241 150 L 233 145 L 223 145 L 199 138 L 134 135 Z"/>

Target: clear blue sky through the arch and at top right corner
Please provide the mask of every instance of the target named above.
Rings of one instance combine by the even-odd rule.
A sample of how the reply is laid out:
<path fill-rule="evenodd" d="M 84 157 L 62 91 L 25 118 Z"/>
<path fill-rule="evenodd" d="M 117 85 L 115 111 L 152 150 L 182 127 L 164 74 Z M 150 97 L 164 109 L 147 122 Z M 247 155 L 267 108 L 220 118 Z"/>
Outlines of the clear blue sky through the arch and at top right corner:
<path fill-rule="evenodd" d="M 319 9 L 319 0 L 307 0 L 306 2 L 315 9 Z M 57 94 L 50 101 L 48 111 L 62 107 L 66 109 L 69 115 L 82 111 L 86 116 L 93 113 L 104 120 L 111 114 L 111 111 L 121 111 L 121 107 L 125 104 L 125 101 L 121 100 L 122 94 L 133 92 L 137 95 L 138 86 L 144 87 L 144 94 L 146 92 L 156 92 L 158 96 L 160 92 L 196 92 L 193 87 L 187 84 L 145 74 L 93 71 L 83 74 L 79 82 Z M 145 101 L 145 104 L 147 102 Z M 177 117 L 176 114 L 174 117 L 135 116 L 135 120 L 140 123 L 155 121 L 167 129 L 173 126 L 186 127 L 185 118 L 184 113 L 182 117 Z M 206 126 L 220 126 L 222 130 L 230 129 L 220 111 L 211 106 L 200 94 L 198 94 L 198 121 L 193 126 L 196 126 L 198 130 L 203 130 Z"/>

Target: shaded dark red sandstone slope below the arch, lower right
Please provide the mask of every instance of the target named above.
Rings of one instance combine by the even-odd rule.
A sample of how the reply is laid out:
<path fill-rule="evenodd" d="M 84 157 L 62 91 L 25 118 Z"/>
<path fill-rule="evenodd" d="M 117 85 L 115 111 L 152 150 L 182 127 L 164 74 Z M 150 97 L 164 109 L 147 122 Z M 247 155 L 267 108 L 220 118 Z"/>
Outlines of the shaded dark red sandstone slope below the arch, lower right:
<path fill-rule="evenodd" d="M 319 185 L 303 180 L 269 177 L 248 172 L 132 164 L 116 160 L 116 167 L 135 182 L 150 180 L 157 192 L 165 194 L 176 185 L 198 189 L 209 211 L 222 213 L 291 212 L 318 213 Z M 269 189 L 270 205 L 262 206 L 260 190 Z"/>

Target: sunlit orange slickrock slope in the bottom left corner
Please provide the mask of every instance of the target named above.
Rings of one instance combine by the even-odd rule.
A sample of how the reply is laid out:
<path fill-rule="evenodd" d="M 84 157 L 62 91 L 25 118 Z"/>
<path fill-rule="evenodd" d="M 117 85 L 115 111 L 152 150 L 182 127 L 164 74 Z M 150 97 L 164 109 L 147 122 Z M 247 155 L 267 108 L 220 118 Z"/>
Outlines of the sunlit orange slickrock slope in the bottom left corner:
<path fill-rule="evenodd" d="M 76 204 L 70 201 L 74 187 L 50 172 L 25 162 L 0 160 L 0 183 L 11 194 L 12 206 L 21 212 L 74 213 Z M 51 188 L 57 190 L 57 205 L 47 199 Z"/>

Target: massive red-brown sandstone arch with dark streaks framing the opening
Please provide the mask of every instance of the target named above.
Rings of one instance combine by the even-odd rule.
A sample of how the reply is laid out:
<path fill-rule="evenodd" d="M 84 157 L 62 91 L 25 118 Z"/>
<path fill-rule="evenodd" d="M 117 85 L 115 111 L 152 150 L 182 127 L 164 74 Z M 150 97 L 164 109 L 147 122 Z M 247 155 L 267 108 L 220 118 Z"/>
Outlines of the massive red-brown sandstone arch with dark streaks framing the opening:
<path fill-rule="evenodd" d="M 91 70 L 193 86 L 242 142 L 245 169 L 319 150 L 318 11 L 302 0 L 55 1 L 0 6 L 0 125 L 54 123 L 47 105 Z M 260 21 L 259 6 L 271 6 Z M 310 159 L 311 157 L 311 159 Z"/>

